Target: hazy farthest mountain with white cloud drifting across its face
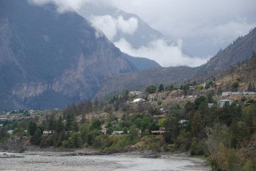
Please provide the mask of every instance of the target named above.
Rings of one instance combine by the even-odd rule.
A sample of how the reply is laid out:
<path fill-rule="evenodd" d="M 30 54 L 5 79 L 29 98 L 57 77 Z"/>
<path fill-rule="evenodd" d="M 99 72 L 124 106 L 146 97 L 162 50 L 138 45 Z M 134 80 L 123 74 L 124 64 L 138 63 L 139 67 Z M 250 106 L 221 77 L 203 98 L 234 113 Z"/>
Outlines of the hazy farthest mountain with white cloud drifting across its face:
<path fill-rule="evenodd" d="M 166 45 L 177 45 L 175 41 L 170 40 L 170 38 L 167 38 L 156 29 L 148 26 L 138 15 L 126 13 L 106 3 L 89 1 L 79 8 L 78 13 L 85 19 L 88 19 L 93 27 L 105 33 L 110 41 L 127 54 L 129 54 L 126 50 L 127 46 L 133 50 L 138 50 L 150 47 L 152 44 L 158 43 L 159 40 L 164 41 Z M 146 57 L 137 59 L 126 57 L 126 59 L 139 70 L 160 66 L 156 61 Z"/>

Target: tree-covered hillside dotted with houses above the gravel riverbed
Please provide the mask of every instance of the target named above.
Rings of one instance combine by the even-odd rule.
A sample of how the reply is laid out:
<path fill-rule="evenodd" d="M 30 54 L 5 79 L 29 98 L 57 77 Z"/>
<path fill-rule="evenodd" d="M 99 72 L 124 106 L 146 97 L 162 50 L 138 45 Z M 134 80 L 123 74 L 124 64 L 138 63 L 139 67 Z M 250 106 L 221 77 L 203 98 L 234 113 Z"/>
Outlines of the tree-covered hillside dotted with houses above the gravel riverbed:
<path fill-rule="evenodd" d="M 40 112 L 31 119 L 6 121 L 0 128 L 1 142 L 28 137 L 30 144 L 40 147 L 189 152 L 205 156 L 212 170 L 255 170 L 256 95 L 228 96 L 234 102 L 221 107 L 218 100 L 227 97 L 216 94 L 221 86 L 225 91 L 255 91 L 255 76 L 250 74 L 255 72 L 255 60 L 253 53 L 250 61 L 205 87 L 195 82 L 179 88 L 160 84 L 156 92 L 156 85 L 148 85 L 145 93 L 125 91 L 108 103 L 95 99 L 50 114 Z M 189 89 L 192 85 L 194 89 Z M 132 103 L 135 98 L 147 102 Z"/>

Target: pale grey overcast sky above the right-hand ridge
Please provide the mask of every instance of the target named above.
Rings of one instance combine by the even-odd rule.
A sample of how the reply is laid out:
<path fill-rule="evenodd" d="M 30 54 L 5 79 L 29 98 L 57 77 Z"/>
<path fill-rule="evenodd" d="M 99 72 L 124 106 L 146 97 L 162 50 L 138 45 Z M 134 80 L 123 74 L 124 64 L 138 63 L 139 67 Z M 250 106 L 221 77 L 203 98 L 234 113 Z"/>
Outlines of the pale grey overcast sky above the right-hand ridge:
<path fill-rule="evenodd" d="M 213 56 L 256 26 L 255 0 L 111 1 L 166 36 L 181 39 L 191 56 Z"/>

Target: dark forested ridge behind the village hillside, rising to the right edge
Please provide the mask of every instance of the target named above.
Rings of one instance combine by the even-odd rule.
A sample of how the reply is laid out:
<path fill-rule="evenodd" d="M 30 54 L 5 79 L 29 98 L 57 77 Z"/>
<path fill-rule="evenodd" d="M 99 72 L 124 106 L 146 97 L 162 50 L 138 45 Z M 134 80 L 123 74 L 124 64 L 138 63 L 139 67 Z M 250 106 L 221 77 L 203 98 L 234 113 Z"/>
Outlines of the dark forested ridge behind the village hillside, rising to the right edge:
<path fill-rule="evenodd" d="M 124 89 L 143 88 L 149 84 L 176 84 L 180 85 L 184 81 L 196 80 L 202 82 L 210 77 L 220 77 L 228 67 L 241 64 L 250 59 L 253 51 L 256 51 L 256 28 L 246 36 L 237 38 L 227 48 L 221 50 L 207 63 L 195 68 L 177 66 L 168 68 L 152 68 L 136 73 L 123 75 L 113 75 L 104 80 L 97 98 L 104 98 L 109 94 L 115 94 Z M 205 74 L 207 73 L 207 74 Z M 115 89 L 113 88 L 115 87 Z"/>

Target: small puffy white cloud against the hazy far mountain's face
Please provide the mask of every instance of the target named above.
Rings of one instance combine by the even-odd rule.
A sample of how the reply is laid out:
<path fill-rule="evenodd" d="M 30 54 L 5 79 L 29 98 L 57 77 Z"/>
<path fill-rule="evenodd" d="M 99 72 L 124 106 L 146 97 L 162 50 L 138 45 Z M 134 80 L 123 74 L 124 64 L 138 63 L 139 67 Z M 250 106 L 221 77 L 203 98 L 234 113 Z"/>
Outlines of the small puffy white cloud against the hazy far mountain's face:
<path fill-rule="evenodd" d="M 120 15 L 115 19 L 110 15 L 96 15 L 90 18 L 92 26 L 100 29 L 109 40 L 113 40 L 118 31 L 126 34 L 133 34 L 138 28 L 138 19 L 134 17 L 124 20 Z"/>

